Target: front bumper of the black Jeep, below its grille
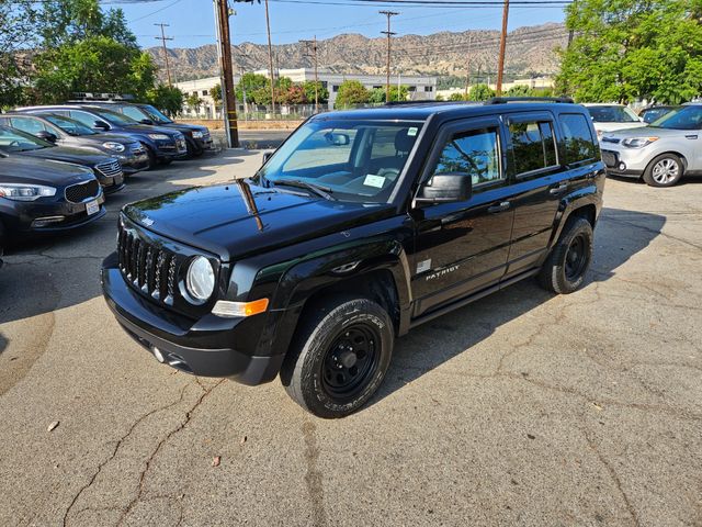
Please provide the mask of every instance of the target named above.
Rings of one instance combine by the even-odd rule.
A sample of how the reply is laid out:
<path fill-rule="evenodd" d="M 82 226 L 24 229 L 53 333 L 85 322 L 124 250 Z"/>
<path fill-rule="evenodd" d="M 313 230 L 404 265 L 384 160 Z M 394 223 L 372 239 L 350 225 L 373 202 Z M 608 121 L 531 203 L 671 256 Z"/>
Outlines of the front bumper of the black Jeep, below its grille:
<path fill-rule="evenodd" d="M 125 283 L 116 254 L 103 261 L 101 282 L 120 325 L 159 361 L 173 368 L 256 385 L 275 379 L 283 363 L 284 355 L 256 355 L 250 324 L 254 317 L 205 315 L 193 321 L 139 296 Z"/>

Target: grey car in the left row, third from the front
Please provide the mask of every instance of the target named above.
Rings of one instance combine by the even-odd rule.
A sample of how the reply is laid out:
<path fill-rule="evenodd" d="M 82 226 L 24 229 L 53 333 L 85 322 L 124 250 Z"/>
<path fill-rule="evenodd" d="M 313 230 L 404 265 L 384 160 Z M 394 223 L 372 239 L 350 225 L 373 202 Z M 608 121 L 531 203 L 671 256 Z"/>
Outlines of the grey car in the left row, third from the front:
<path fill-rule="evenodd" d="M 58 146 L 115 157 L 125 175 L 144 170 L 149 165 L 146 149 L 138 141 L 118 134 L 100 134 L 63 115 L 4 113 L 0 115 L 0 124 L 21 130 Z"/>

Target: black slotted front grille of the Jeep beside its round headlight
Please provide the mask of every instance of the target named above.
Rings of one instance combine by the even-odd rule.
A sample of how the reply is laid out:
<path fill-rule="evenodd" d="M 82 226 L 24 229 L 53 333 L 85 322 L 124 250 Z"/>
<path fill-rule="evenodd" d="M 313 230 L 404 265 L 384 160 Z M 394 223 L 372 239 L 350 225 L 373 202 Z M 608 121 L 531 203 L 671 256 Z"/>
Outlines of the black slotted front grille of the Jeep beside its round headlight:
<path fill-rule="evenodd" d="M 126 280 L 144 294 L 173 305 L 177 256 L 140 238 L 136 232 L 120 225 L 117 240 L 120 269 Z"/>

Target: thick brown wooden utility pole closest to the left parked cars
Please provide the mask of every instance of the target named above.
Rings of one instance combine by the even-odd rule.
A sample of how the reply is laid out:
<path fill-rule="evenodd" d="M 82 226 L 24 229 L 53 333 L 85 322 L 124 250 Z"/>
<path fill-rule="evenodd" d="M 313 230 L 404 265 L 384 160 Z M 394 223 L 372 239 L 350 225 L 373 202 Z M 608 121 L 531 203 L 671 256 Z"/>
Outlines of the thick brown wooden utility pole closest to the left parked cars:
<path fill-rule="evenodd" d="M 219 37 L 219 68 L 222 71 L 222 113 L 229 148 L 239 147 L 237 127 L 237 101 L 234 91 L 234 68 L 231 66 L 231 35 L 229 33 L 229 4 L 227 0 L 215 0 L 217 36 Z"/>

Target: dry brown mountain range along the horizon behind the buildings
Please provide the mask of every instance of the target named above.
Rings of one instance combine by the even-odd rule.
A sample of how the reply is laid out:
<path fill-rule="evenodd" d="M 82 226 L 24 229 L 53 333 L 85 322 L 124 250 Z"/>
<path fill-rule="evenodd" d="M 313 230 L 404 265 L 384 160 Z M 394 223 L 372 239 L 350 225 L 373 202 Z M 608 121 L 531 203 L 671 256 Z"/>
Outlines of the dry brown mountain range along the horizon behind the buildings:
<path fill-rule="evenodd" d="M 469 66 L 473 78 L 487 78 L 497 70 L 499 31 L 471 30 L 430 35 L 404 35 L 392 40 L 392 71 L 401 75 L 465 76 Z M 506 77 L 553 75 L 558 70 L 557 48 L 565 47 L 568 32 L 563 24 L 524 26 L 508 34 Z M 339 74 L 384 74 L 387 60 L 385 37 L 369 38 L 359 34 L 340 34 L 317 42 L 320 69 Z M 148 52 L 163 68 L 163 52 Z M 274 69 L 310 68 L 312 46 L 304 43 L 273 46 Z M 176 80 L 218 75 L 217 48 L 208 44 L 194 48 L 168 49 Z M 268 46 L 242 43 L 233 46 L 235 71 L 268 69 Z M 479 71 L 479 74 L 478 74 Z M 165 71 L 162 71 L 165 74 Z"/>

